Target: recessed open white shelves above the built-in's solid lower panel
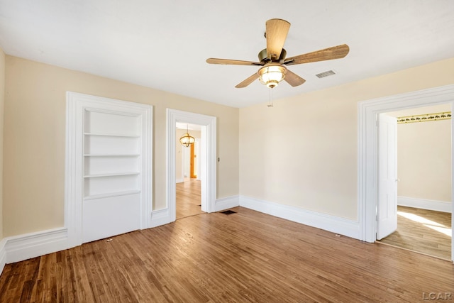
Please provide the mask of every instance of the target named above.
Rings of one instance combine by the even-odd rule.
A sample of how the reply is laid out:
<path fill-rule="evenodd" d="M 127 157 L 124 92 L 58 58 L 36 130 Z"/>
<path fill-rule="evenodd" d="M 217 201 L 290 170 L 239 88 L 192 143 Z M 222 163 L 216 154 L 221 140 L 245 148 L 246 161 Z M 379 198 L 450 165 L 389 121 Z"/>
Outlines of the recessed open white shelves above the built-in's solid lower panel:
<path fill-rule="evenodd" d="M 138 118 L 86 111 L 84 122 L 84 199 L 140 192 Z"/>

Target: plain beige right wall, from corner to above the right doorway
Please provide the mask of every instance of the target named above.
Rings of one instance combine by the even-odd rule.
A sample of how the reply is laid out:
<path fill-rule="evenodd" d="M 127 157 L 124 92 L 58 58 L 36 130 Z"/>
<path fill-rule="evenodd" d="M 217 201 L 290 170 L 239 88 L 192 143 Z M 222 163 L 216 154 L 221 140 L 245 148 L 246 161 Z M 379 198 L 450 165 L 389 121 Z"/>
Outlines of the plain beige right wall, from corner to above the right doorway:
<path fill-rule="evenodd" d="M 451 58 L 240 109 L 240 194 L 358 219 L 358 101 L 453 84 L 453 70 Z"/>

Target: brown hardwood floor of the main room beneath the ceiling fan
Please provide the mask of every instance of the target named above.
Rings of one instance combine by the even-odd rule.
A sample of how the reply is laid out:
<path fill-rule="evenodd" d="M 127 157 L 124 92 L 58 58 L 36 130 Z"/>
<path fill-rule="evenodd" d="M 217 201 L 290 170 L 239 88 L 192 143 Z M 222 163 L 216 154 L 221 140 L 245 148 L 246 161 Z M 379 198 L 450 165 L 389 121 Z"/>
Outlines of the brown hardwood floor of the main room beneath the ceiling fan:
<path fill-rule="evenodd" d="M 237 207 L 8 264 L 0 302 L 423 302 L 454 265 Z M 446 295 L 446 296 L 448 296 Z"/>

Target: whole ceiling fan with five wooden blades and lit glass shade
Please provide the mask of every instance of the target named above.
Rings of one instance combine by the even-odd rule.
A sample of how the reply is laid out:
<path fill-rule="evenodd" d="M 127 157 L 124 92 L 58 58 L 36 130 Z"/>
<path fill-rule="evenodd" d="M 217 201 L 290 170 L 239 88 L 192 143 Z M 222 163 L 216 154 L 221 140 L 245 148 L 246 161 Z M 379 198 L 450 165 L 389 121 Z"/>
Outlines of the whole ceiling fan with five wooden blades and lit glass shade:
<path fill-rule="evenodd" d="M 284 50 L 283 47 L 289 28 L 290 23 L 282 19 L 270 19 L 266 22 L 265 38 L 267 39 L 267 48 L 258 53 L 260 62 L 218 58 L 209 58 L 206 59 L 206 62 L 223 65 L 261 66 L 258 72 L 237 84 L 236 88 L 247 87 L 256 79 L 260 79 L 262 84 L 265 84 L 270 88 L 276 87 L 283 79 L 288 84 L 292 85 L 292 87 L 297 87 L 306 82 L 306 80 L 288 70 L 286 67 L 287 65 L 341 59 L 345 57 L 350 50 L 348 45 L 343 44 L 287 58 L 287 51 Z"/>

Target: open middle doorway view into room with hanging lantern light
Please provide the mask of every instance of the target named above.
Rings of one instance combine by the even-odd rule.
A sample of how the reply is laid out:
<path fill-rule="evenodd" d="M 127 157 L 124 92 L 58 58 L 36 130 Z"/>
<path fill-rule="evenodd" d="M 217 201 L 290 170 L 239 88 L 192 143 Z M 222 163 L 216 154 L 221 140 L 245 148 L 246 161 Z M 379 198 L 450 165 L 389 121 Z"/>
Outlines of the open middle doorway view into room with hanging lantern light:
<path fill-rule="evenodd" d="M 189 133 L 195 142 L 189 146 L 179 143 L 179 138 Z M 201 210 L 201 180 L 199 173 L 201 126 L 176 123 L 175 149 L 176 219 L 203 214 Z"/>

